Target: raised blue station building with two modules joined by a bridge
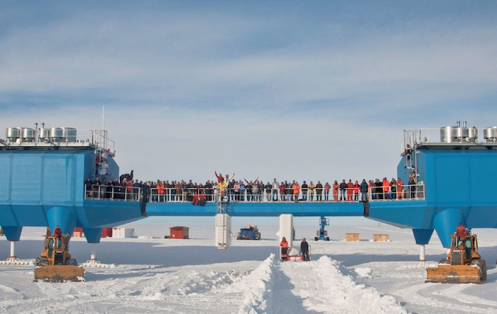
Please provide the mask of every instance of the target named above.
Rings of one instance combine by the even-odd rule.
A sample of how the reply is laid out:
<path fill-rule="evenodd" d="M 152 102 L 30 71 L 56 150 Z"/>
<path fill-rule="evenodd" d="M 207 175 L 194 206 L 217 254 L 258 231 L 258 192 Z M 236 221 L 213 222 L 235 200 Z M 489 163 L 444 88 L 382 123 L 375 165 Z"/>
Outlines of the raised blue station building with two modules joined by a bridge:
<path fill-rule="evenodd" d="M 364 203 L 293 203 L 226 201 L 218 195 L 219 201 L 192 206 L 167 196 L 154 201 L 139 189 L 87 191 L 87 178 L 119 177 L 119 166 L 109 151 L 114 144 L 105 130 L 83 135 L 74 128 L 45 125 L 6 128 L 5 138 L 0 139 L 0 226 L 9 241 L 18 241 L 24 226 L 53 230 L 60 225 L 64 234 L 82 228 L 87 242 L 98 243 L 102 228 L 153 215 L 364 216 L 411 228 L 419 245 L 427 244 L 436 230 L 444 247 L 449 247 L 450 234 L 459 223 L 466 228 L 497 228 L 497 194 L 488 189 L 497 177 L 497 127 L 478 130 L 458 122 L 405 130 L 404 135 L 406 150 L 398 164 L 398 178 L 406 184 L 403 198 L 375 199 L 370 193 Z M 106 174 L 99 172 L 102 165 L 97 158 L 102 153 L 107 155 Z M 409 175 L 415 182 L 407 186 Z M 224 229 L 229 224 L 220 223 Z"/>

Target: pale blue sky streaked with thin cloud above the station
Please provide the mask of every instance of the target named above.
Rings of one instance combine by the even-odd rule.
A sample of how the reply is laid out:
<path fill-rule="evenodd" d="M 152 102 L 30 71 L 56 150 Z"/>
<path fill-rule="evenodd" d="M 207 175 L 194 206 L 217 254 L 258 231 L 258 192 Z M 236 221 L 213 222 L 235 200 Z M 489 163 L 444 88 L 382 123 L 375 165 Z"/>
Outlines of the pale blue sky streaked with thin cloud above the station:
<path fill-rule="evenodd" d="M 403 130 L 497 125 L 495 1 L 0 4 L 0 128 L 104 126 L 136 179 L 391 178 Z"/>

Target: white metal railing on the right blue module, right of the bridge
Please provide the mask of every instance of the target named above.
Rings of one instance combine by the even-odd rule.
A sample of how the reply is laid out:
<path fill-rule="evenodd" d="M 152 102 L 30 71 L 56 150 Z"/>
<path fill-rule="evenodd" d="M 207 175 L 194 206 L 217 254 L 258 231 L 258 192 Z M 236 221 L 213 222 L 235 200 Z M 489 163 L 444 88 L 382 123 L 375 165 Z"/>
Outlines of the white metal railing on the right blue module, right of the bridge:
<path fill-rule="evenodd" d="M 388 191 L 383 191 L 383 186 L 373 186 L 368 188 L 368 200 L 374 201 L 413 201 L 424 200 L 425 185 L 424 184 L 411 184 L 397 186 L 395 191 L 391 188 Z"/>

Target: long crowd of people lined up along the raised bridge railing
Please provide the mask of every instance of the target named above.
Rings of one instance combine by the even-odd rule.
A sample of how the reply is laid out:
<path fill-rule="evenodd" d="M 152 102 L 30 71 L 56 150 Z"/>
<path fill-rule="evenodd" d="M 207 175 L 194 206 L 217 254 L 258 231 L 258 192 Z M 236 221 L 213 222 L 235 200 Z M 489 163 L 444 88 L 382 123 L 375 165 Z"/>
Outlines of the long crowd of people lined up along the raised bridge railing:
<path fill-rule="evenodd" d="M 96 176 L 92 181 L 88 178 L 85 182 L 87 198 L 115 198 L 146 202 L 190 201 L 194 205 L 204 205 L 207 201 L 217 201 L 219 198 L 227 201 L 242 202 L 328 202 L 328 201 L 369 201 L 393 200 L 403 198 L 416 198 L 416 175 L 412 171 L 408 177 L 408 184 L 398 178 L 388 180 L 375 179 L 366 181 L 342 182 L 335 180 L 332 184 L 320 180 L 313 181 L 266 181 L 258 178 L 254 180 L 234 179 L 235 174 L 217 174 L 215 180 L 207 180 L 204 184 L 197 182 L 181 181 L 138 181 L 131 174 L 124 174 L 119 179 L 110 179 L 105 176 L 102 181 Z"/>

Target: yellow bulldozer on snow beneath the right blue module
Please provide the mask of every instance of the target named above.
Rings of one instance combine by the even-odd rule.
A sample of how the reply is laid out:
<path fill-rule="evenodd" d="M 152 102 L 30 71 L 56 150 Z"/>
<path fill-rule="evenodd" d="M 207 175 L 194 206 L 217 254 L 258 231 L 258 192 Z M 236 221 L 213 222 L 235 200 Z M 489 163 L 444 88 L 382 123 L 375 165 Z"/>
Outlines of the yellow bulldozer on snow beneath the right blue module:
<path fill-rule="evenodd" d="M 451 235 L 450 252 L 437 267 L 426 269 L 426 282 L 475 283 L 486 281 L 486 263 L 478 254 L 476 235 L 457 239 Z"/>

